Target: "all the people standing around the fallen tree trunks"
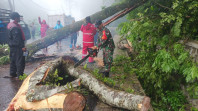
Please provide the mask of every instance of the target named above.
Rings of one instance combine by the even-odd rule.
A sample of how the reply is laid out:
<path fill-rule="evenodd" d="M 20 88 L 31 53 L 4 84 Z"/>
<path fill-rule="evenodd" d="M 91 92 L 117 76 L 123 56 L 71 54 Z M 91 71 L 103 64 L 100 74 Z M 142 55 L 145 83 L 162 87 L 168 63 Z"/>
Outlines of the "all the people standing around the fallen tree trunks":
<path fill-rule="evenodd" d="M 9 47 L 10 47 L 10 76 L 11 77 L 19 77 L 23 75 L 25 68 L 25 55 L 26 47 L 25 47 L 25 35 L 19 24 L 20 15 L 17 12 L 13 12 L 10 15 L 11 21 L 7 29 L 9 30 Z M 38 22 L 40 24 L 40 36 L 43 40 L 46 37 L 46 32 L 49 29 L 49 25 L 45 20 L 42 20 L 38 17 Z M 75 23 L 75 21 L 73 21 Z M 34 23 L 30 25 L 32 39 L 35 39 L 35 30 L 36 27 Z M 56 26 L 53 28 L 54 30 L 58 30 L 63 28 L 60 20 L 57 21 Z M 83 33 L 82 40 L 82 58 L 87 56 L 88 48 L 92 49 L 102 49 L 103 50 L 103 62 L 105 66 L 105 70 L 101 72 L 105 77 L 109 77 L 110 68 L 113 62 L 113 51 L 115 48 L 114 41 L 112 35 L 105 26 L 103 26 L 102 21 L 97 21 L 95 24 L 91 22 L 91 18 L 88 16 L 85 18 L 85 23 L 81 26 L 80 31 Z M 76 48 L 76 41 L 78 32 L 74 32 L 70 35 L 71 48 Z M 57 47 L 61 47 L 61 40 L 57 41 Z M 43 49 L 47 52 L 47 47 Z M 43 51 L 43 52 L 44 52 Z M 88 64 L 95 63 L 93 57 L 89 57 Z"/>

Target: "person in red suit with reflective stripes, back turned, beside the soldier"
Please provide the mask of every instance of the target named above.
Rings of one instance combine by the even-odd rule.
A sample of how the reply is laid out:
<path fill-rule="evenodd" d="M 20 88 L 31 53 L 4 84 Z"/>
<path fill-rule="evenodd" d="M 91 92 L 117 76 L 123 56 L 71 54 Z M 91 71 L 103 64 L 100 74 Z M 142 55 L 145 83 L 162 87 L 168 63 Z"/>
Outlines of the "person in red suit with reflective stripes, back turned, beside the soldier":
<path fill-rule="evenodd" d="M 88 48 L 94 46 L 94 35 L 96 34 L 96 28 L 91 23 L 91 18 L 88 16 L 85 18 L 86 24 L 81 26 L 81 31 L 83 32 L 83 50 L 82 50 L 82 58 L 87 56 Z M 94 63 L 93 57 L 89 57 L 88 63 Z"/>

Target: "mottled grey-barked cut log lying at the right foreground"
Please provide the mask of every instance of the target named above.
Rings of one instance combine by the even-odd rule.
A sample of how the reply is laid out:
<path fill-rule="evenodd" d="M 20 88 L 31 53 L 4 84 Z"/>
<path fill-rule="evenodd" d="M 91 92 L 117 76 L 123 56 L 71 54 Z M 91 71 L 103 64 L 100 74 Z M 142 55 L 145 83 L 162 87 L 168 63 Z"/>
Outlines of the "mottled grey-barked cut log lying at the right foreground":
<path fill-rule="evenodd" d="M 93 91 L 101 101 L 111 106 L 140 111 L 148 111 L 150 107 L 149 97 L 134 95 L 124 91 L 112 89 L 104 83 L 98 81 L 89 72 L 80 68 L 70 66 L 68 70 L 72 76 L 81 79 L 81 83 L 88 87 L 90 91 Z"/>

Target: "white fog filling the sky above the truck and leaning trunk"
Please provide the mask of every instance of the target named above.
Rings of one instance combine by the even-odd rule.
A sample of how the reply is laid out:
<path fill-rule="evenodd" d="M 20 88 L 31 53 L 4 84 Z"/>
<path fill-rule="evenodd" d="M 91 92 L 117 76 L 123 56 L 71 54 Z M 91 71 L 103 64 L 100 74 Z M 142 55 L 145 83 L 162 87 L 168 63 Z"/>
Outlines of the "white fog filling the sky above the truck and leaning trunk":
<path fill-rule="evenodd" d="M 14 0 L 14 6 L 15 11 L 19 12 L 26 22 L 36 20 L 39 16 L 47 20 L 47 15 L 63 13 L 81 20 L 113 2 L 114 0 Z M 10 9 L 8 0 L 0 0 L 0 7 Z"/>

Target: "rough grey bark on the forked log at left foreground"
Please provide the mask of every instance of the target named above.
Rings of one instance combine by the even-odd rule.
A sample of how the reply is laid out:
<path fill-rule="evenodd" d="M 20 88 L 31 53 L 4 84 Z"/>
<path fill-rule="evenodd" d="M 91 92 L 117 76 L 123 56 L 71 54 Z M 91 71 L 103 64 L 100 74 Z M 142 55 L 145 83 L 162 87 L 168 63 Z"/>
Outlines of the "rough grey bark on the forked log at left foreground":
<path fill-rule="evenodd" d="M 44 81 L 49 73 L 52 73 L 57 69 L 58 65 L 63 65 L 62 59 L 56 59 L 55 61 L 50 61 L 40 68 L 38 68 L 29 80 L 29 87 L 26 93 L 26 99 L 28 102 L 44 100 L 56 93 L 65 91 L 71 86 L 51 86 L 51 85 L 41 85 L 40 83 Z M 72 87 L 79 86 L 80 79 L 70 82 Z"/>

